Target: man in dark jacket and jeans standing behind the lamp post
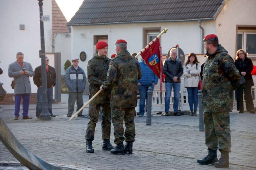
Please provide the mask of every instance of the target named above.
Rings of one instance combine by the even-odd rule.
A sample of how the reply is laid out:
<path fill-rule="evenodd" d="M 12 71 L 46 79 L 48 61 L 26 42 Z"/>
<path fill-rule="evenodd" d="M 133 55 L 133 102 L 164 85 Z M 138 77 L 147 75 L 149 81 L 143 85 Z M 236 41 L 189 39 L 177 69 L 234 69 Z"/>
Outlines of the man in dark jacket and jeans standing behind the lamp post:
<path fill-rule="evenodd" d="M 53 115 L 52 103 L 53 103 L 53 87 L 56 84 L 56 72 L 55 69 L 49 65 L 49 58 L 45 57 L 46 65 L 46 79 L 47 79 L 47 100 L 48 100 L 48 110 L 51 114 L 51 117 L 56 117 Z M 34 84 L 38 87 L 37 91 L 37 104 L 36 104 L 36 117 L 39 118 L 39 115 L 42 111 L 42 66 L 38 66 L 35 69 L 35 75 L 33 77 Z"/>

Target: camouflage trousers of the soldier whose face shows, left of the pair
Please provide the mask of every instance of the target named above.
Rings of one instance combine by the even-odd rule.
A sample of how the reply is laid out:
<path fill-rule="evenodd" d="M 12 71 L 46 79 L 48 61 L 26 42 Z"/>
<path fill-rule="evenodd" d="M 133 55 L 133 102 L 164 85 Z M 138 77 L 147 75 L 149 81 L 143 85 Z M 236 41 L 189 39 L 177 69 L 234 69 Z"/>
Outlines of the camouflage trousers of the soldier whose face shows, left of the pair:
<path fill-rule="evenodd" d="M 110 104 L 89 104 L 90 120 L 87 124 L 85 138 L 86 140 L 94 140 L 96 123 L 98 122 L 100 106 L 102 106 L 102 139 L 110 139 L 111 128 L 111 108 Z"/>

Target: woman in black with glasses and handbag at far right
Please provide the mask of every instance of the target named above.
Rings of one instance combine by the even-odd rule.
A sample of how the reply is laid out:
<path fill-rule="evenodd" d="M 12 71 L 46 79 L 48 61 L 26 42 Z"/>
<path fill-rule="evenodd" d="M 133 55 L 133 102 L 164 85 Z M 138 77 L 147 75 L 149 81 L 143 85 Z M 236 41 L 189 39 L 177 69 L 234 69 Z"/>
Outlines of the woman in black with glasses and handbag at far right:
<path fill-rule="evenodd" d="M 252 80 L 253 64 L 252 60 L 247 57 L 244 50 L 237 51 L 237 57 L 235 58 L 235 66 L 239 70 L 241 76 L 244 76 L 245 83 L 241 84 L 235 91 L 237 97 L 237 110 L 239 113 L 243 113 L 243 93 L 245 94 L 246 110 L 250 113 L 255 113 L 253 101 L 252 101 L 252 86 L 254 85 Z"/>

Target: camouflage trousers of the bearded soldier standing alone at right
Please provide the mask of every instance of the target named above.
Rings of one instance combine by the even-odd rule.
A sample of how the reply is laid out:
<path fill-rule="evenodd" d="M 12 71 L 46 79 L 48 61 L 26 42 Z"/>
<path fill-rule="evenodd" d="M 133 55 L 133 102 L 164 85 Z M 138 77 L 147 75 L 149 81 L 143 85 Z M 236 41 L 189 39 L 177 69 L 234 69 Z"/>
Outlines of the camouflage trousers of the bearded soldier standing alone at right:
<path fill-rule="evenodd" d="M 208 149 L 231 152 L 229 112 L 204 114 L 205 144 Z"/>

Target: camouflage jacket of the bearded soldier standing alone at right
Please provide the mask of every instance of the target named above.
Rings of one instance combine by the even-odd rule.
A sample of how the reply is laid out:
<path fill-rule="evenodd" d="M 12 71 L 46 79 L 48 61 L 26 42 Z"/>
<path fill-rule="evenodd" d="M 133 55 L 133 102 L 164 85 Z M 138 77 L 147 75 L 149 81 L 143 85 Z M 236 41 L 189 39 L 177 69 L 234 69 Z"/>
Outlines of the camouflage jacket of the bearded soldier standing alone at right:
<path fill-rule="evenodd" d="M 203 111 L 231 111 L 233 90 L 239 87 L 239 82 L 239 71 L 233 59 L 227 50 L 219 45 L 216 52 L 208 56 L 203 68 Z"/>

